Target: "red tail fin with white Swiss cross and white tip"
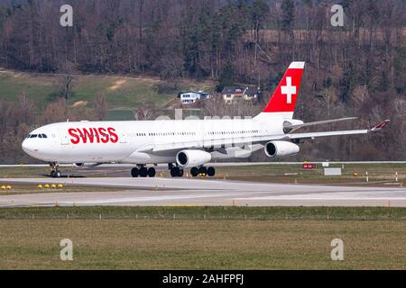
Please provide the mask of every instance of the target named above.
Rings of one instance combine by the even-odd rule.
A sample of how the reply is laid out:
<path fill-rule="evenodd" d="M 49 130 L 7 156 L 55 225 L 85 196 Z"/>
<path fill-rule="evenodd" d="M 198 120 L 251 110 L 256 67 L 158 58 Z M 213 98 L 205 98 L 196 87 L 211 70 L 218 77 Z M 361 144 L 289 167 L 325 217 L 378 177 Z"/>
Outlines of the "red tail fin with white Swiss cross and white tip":
<path fill-rule="evenodd" d="M 305 62 L 291 62 L 263 112 L 294 112 Z"/>

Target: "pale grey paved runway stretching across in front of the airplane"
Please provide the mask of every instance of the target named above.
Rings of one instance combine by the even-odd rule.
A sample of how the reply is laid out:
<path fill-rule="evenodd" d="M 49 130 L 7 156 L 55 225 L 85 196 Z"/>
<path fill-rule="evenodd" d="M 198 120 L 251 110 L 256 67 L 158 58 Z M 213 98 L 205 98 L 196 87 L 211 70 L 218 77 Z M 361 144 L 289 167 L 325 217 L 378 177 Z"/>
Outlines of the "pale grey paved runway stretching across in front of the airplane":
<path fill-rule="evenodd" d="M 320 184 L 270 184 L 185 178 L 0 179 L 6 184 L 52 184 L 121 188 L 111 192 L 0 195 L 0 206 L 398 206 L 406 207 L 406 188 Z M 90 190 L 90 188 L 89 188 Z"/>

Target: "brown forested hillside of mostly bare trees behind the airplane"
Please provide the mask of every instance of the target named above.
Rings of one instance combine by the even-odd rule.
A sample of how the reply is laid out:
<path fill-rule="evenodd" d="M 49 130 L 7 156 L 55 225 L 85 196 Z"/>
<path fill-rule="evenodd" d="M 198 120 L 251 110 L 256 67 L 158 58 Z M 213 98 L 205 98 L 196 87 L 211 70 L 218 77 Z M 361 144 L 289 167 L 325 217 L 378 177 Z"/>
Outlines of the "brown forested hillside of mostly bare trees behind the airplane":
<path fill-rule="evenodd" d="M 404 160 L 405 2 L 337 2 L 0 0 L 0 67 L 66 75 L 48 103 L 62 106 L 60 120 L 66 120 L 74 113 L 69 97 L 75 74 L 159 76 L 174 89 L 181 79 L 193 78 L 215 81 L 218 89 L 246 84 L 272 91 L 291 60 L 303 60 L 296 118 L 360 117 L 345 128 L 392 122 L 379 135 L 307 143 L 305 153 L 289 159 Z M 73 27 L 60 26 L 61 4 L 72 5 Z M 344 27 L 330 24 L 332 4 L 344 7 Z M 1 91 L 0 157 L 18 161 L 19 141 L 39 123 L 32 111 L 47 107 L 30 94 L 13 102 Z M 104 107 L 102 95 L 98 101 L 83 109 Z M 260 109 L 261 104 L 230 107 L 213 99 L 204 111 L 245 116 Z M 6 157 L 10 150 L 17 158 Z"/>

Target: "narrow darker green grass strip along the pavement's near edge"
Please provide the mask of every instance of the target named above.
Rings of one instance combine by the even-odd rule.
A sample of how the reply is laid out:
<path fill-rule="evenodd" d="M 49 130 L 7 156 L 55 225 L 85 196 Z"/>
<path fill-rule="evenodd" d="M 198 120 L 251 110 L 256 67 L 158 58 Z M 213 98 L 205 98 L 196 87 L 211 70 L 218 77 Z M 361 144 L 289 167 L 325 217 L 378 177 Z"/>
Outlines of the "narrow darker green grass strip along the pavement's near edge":
<path fill-rule="evenodd" d="M 401 207 L 26 207 L 2 208 L 0 219 L 406 220 Z"/>

